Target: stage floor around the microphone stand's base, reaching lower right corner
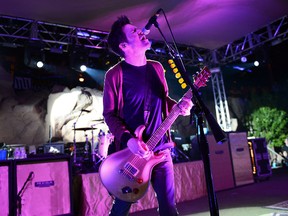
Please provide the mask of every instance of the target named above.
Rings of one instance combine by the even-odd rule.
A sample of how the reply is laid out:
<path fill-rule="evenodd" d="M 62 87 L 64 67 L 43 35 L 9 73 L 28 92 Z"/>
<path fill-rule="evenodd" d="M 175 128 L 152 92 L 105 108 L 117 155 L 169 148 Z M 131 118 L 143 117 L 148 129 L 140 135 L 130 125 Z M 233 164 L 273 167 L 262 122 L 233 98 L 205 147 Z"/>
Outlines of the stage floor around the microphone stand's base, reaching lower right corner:
<path fill-rule="evenodd" d="M 221 216 L 288 216 L 288 209 L 266 208 L 288 200 L 288 168 L 272 169 L 268 180 L 216 192 Z M 208 216 L 207 196 L 177 204 L 180 215 Z M 130 216 L 156 216 L 156 209 L 131 213 Z"/>

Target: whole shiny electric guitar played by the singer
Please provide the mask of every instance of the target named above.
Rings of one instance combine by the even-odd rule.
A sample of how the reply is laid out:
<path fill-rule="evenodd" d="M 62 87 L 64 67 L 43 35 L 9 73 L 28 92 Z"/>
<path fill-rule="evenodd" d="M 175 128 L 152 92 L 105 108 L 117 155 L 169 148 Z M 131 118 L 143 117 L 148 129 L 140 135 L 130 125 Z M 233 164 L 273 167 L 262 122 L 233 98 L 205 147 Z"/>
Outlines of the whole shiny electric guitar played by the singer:
<path fill-rule="evenodd" d="M 194 78 L 195 88 L 206 86 L 206 81 L 211 76 L 207 67 Z M 192 98 L 192 91 L 189 89 L 183 97 Z M 176 118 L 180 115 L 179 106 L 174 106 L 162 122 L 159 128 L 146 142 L 148 149 L 152 152 L 157 143 L 164 136 Z M 139 126 L 135 135 L 141 139 L 145 126 Z M 142 158 L 133 154 L 128 148 L 109 155 L 102 161 L 99 174 L 105 188 L 115 197 L 127 202 L 136 202 L 143 197 L 148 189 L 151 171 L 153 167 L 164 161 L 170 151 L 163 151 L 159 154 L 151 153 L 148 157 Z"/>

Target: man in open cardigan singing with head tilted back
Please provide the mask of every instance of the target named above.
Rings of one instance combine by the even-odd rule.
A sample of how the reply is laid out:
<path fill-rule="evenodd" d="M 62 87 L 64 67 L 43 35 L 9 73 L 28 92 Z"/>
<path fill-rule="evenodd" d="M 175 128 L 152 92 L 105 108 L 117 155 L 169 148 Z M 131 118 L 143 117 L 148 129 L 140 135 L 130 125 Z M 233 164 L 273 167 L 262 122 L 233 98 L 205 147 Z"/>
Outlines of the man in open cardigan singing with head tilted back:
<path fill-rule="evenodd" d="M 146 142 L 174 106 L 179 106 L 181 115 L 189 115 L 193 103 L 183 97 L 177 105 L 168 96 L 162 65 L 146 59 L 145 52 L 151 46 L 150 41 L 126 16 L 114 22 L 108 43 L 123 58 L 107 71 L 104 81 L 103 116 L 115 136 L 116 150 L 128 148 L 140 158 L 167 154 L 164 160 L 153 166 L 151 184 L 157 195 L 159 214 L 178 215 L 170 155 L 174 144 L 169 132 L 161 137 L 153 149 L 149 149 Z M 145 130 L 141 130 L 140 137 L 135 136 L 141 125 L 145 126 Z M 116 197 L 110 215 L 128 215 L 132 203 Z"/>

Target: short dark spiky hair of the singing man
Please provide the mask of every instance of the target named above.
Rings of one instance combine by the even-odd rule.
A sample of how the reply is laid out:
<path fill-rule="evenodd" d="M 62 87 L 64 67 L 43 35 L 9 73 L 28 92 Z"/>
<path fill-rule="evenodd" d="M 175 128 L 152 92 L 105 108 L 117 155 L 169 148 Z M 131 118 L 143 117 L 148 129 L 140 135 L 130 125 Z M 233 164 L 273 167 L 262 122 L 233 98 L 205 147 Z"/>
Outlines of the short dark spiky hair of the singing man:
<path fill-rule="evenodd" d="M 110 49 L 121 57 L 124 57 L 124 52 L 119 48 L 119 44 L 127 41 L 126 35 L 123 32 L 123 26 L 127 24 L 131 24 L 127 16 L 118 17 L 113 23 L 108 35 L 108 45 Z"/>

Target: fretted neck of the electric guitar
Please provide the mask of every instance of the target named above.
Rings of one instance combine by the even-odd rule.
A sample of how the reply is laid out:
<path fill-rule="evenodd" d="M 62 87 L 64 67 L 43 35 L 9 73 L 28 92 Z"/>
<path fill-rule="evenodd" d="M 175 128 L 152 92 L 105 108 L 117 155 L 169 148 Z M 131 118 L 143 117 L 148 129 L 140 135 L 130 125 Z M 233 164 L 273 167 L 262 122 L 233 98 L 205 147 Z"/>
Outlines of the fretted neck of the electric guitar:
<path fill-rule="evenodd" d="M 184 94 L 183 97 L 191 99 L 192 98 L 191 89 L 189 89 Z M 171 125 L 174 123 L 174 121 L 177 119 L 177 117 L 180 115 L 180 113 L 181 113 L 181 110 L 180 110 L 179 106 L 174 106 L 172 108 L 171 112 L 166 117 L 166 119 L 161 123 L 159 128 L 153 133 L 153 135 L 147 141 L 146 144 L 147 144 L 149 150 L 153 150 L 156 147 L 157 143 L 161 140 L 161 138 L 164 136 L 166 131 L 171 127 Z"/>

